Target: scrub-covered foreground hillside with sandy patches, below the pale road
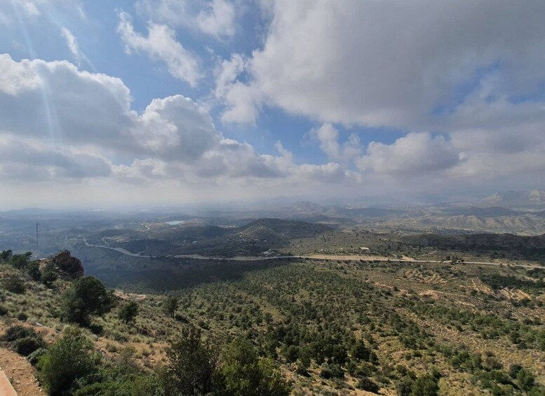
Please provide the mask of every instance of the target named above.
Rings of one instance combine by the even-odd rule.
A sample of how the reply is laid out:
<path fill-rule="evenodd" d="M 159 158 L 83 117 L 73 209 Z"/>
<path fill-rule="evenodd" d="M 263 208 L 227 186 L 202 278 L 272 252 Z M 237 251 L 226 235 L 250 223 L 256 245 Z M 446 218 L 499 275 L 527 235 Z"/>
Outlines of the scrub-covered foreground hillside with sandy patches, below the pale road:
<path fill-rule="evenodd" d="M 67 252 L 29 257 L 0 255 L 0 364 L 25 356 L 18 390 L 37 379 L 67 396 L 545 391 L 539 268 L 171 258 L 170 271 L 121 276 L 113 294 Z"/>

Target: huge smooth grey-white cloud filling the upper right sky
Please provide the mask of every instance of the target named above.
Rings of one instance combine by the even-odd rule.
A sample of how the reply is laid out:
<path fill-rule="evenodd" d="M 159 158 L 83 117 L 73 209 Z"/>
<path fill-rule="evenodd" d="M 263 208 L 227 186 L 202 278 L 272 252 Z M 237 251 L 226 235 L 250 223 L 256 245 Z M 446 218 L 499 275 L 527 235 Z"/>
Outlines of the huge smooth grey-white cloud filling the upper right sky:
<path fill-rule="evenodd" d="M 253 123 L 273 106 L 326 123 L 429 128 L 482 74 L 501 74 L 509 96 L 545 80 L 539 0 L 279 0 L 271 13 L 246 75 L 222 89 L 224 121 Z"/>

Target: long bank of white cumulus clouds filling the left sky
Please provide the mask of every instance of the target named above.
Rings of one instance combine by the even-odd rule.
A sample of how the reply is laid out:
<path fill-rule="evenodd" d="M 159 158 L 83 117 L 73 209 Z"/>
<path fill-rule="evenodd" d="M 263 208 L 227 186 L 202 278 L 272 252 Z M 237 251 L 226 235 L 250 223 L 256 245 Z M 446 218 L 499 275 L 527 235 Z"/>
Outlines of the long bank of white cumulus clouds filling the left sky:
<path fill-rule="evenodd" d="M 210 114 L 182 95 L 152 100 L 138 113 L 119 78 L 67 61 L 0 55 L 0 71 L 10 81 L 0 85 L 0 179 L 10 183 L 98 188 L 90 180 L 100 179 L 101 189 L 160 186 L 174 199 L 173 191 L 187 188 L 238 186 L 235 195 L 255 196 L 267 191 L 264 183 L 295 191 L 345 179 L 336 163 L 297 164 L 279 142 L 273 155 L 224 137 Z"/>

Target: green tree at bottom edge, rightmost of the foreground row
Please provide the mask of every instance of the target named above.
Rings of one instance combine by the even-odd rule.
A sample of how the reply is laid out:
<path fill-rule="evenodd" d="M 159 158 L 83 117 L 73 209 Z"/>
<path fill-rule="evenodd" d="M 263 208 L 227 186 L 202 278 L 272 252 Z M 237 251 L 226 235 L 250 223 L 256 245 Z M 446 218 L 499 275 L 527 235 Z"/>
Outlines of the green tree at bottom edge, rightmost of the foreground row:
<path fill-rule="evenodd" d="M 235 339 L 223 351 L 220 365 L 220 395 L 283 396 L 290 388 L 274 362 L 259 359 L 251 344 Z"/>

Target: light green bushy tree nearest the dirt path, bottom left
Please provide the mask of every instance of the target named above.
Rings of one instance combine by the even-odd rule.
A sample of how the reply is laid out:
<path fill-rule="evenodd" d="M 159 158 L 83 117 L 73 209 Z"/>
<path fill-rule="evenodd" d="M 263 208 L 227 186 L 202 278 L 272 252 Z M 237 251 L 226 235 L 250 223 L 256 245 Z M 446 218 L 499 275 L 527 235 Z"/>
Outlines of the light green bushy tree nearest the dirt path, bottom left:
<path fill-rule="evenodd" d="M 97 371 L 100 362 L 100 355 L 93 352 L 93 343 L 79 329 L 67 327 L 64 333 L 37 364 L 40 382 L 52 396 L 70 395 L 74 382 Z"/>

